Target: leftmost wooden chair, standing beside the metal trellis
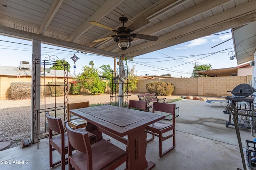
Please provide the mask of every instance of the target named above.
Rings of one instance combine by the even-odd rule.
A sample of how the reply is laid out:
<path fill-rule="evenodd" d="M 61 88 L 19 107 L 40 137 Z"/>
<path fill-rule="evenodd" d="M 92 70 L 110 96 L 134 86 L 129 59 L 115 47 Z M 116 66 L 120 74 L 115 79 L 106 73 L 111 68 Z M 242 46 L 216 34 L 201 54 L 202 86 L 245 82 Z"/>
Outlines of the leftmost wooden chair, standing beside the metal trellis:
<path fill-rule="evenodd" d="M 48 125 L 49 125 L 49 161 L 50 167 L 53 167 L 61 163 L 61 169 L 65 170 L 65 165 L 68 164 L 68 158 L 65 155 L 68 153 L 68 136 L 64 133 L 64 127 L 60 118 L 51 117 L 49 113 L 46 113 Z M 76 131 L 87 132 L 86 130 L 79 128 Z M 60 133 L 60 135 L 52 136 L 52 132 Z M 96 135 L 88 132 L 91 143 L 96 142 Z M 52 161 L 52 152 L 56 150 L 60 153 L 61 159 L 54 162 Z"/>

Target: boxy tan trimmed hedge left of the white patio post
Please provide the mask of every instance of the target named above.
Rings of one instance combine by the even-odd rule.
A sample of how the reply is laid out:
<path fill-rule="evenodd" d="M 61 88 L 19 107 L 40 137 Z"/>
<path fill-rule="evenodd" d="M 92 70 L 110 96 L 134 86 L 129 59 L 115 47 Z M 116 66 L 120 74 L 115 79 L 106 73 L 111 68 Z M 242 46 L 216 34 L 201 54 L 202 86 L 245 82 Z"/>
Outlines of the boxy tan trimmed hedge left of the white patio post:
<path fill-rule="evenodd" d="M 31 98 L 31 82 L 12 82 L 10 90 L 12 100 Z"/>

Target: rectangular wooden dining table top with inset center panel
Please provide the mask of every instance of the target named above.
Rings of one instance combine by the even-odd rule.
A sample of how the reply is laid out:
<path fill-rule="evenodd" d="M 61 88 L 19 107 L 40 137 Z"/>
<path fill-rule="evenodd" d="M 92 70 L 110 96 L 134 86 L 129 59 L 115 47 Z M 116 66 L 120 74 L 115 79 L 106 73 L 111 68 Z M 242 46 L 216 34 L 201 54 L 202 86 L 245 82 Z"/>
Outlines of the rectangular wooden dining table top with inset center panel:
<path fill-rule="evenodd" d="M 165 118 L 164 115 L 111 105 L 72 109 L 70 113 L 120 137 Z"/>

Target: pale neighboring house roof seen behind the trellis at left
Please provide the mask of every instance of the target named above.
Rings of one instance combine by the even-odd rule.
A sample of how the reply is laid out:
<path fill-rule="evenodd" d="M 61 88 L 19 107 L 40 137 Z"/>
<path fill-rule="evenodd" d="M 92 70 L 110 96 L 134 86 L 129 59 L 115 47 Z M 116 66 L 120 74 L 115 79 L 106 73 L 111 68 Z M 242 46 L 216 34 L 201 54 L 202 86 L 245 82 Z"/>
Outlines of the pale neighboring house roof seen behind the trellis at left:
<path fill-rule="evenodd" d="M 42 69 L 43 70 L 43 69 Z M 56 72 L 56 73 L 55 73 Z M 14 66 L 0 66 L 0 76 L 31 76 L 31 69 L 19 69 L 19 67 Z M 63 70 L 50 70 L 50 72 L 45 71 L 46 77 L 63 77 Z M 44 71 L 41 71 L 41 76 L 44 76 Z M 68 72 L 68 77 L 75 77 L 74 74 Z"/>

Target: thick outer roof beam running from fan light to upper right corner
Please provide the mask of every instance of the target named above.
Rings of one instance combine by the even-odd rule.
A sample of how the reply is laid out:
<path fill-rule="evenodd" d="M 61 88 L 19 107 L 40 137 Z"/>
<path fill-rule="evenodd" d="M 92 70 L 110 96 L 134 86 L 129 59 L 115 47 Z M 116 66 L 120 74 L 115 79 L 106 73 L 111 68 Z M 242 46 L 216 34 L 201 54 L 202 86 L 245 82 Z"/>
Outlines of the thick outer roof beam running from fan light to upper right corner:
<path fill-rule="evenodd" d="M 247 2 L 230 10 L 226 10 L 204 20 L 190 24 L 186 27 L 177 29 L 176 31 L 162 35 L 158 37 L 158 41 L 146 41 L 145 43 L 136 45 L 136 47 L 130 47 L 127 54 L 131 57 L 136 57 L 144 53 L 150 53 L 152 51 L 191 41 L 212 33 L 217 33 L 256 21 L 255 6 L 256 1 Z M 205 30 L 212 31 L 208 31 L 207 33 Z"/>

